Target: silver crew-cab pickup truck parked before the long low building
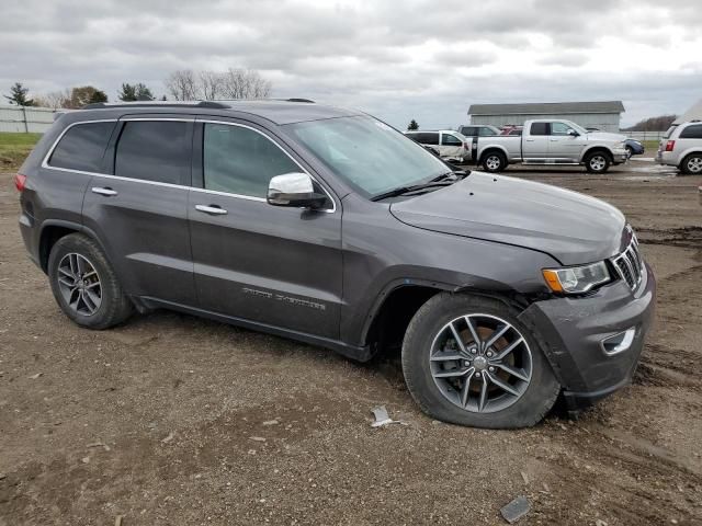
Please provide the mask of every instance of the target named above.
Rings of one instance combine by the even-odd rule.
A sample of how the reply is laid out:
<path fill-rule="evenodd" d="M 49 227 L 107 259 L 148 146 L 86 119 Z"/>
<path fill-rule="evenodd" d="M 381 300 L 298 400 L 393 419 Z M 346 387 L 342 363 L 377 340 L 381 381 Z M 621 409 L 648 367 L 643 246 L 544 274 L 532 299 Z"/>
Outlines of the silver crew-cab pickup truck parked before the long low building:
<path fill-rule="evenodd" d="M 562 119 L 526 121 L 521 136 L 474 137 L 472 159 L 487 172 L 501 172 L 508 164 L 584 164 L 590 173 L 604 173 L 612 164 L 626 162 L 626 137 L 588 132 Z"/>

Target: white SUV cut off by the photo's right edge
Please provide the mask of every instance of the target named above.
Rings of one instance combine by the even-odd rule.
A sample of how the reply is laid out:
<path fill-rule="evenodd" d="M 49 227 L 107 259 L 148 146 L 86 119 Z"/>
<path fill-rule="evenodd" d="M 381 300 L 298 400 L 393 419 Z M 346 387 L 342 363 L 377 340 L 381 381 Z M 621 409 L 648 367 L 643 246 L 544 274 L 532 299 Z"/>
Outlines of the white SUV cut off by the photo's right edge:
<path fill-rule="evenodd" d="M 672 125 L 658 145 L 656 161 L 682 173 L 702 174 L 702 121 Z"/>

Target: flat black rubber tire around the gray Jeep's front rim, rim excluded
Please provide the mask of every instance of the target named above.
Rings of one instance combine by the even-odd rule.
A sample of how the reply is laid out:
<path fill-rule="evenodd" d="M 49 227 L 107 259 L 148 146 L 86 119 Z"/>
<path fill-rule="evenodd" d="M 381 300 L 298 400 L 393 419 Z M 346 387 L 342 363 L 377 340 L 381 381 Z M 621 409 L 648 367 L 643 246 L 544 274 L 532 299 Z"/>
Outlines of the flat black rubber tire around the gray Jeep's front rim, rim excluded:
<path fill-rule="evenodd" d="M 521 334 L 526 342 L 531 377 L 520 397 L 513 401 L 507 397 L 509 393 L 501 393 L 502 399 L 507 397 L 508 403 L 511 403 L 505 409 L 478 412 L 475 408 L 468 410 L 460 407 L 455 401 L 449 400 L 432 375 L 433 364 L 437 363 L 430 361 L 434 339 L 452 320 L 468 315 L 497 317 L 511 324 L 516 334 Z M 546 415 L 561 392 L 561 386 L 539 343 L 517 316 L 516 309 L 497 299 L 449 293 L 433 296 L 417 311 L 403 342 L 403 371 L 409 392 L 424 413 L 453 424 L 488 428 L 526 427 L 539 423 Z M 492 373 L 492 376 L 499 374 Z M 484 376 L 489 375 L 484 371 Z M 500 395 L 497 386 L 492 385 L 490 389 Z M 456 389 L 456 397 L 457 391 Z M 496 401 L 500 403 L 499 399 Z"/>

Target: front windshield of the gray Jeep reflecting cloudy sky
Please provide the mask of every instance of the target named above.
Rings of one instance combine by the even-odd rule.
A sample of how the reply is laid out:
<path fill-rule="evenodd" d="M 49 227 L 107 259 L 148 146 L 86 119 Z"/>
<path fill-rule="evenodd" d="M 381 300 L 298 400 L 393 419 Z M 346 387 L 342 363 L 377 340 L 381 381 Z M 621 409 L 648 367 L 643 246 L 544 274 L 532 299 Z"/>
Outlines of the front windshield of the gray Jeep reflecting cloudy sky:
<path fill-rule="evenodd" d="M 373 117 L 328 118 L 284 127 L 364 197 L 424 183 L 450 171 L 412 139 Z"/>

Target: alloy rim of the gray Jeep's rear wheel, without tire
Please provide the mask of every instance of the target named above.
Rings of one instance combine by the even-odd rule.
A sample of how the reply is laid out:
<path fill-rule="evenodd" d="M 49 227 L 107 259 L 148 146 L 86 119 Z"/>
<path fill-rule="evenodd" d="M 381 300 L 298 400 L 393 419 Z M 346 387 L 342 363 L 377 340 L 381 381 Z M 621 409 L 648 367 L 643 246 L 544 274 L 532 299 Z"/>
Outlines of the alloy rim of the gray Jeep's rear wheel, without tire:
<path fill-rule="evenodd" d="M 92 316 L 102 305 L 102 284 L 94 265 L 77 253 L 58 263 L 58 288 L 66 305 L 80 316 Z"/>

